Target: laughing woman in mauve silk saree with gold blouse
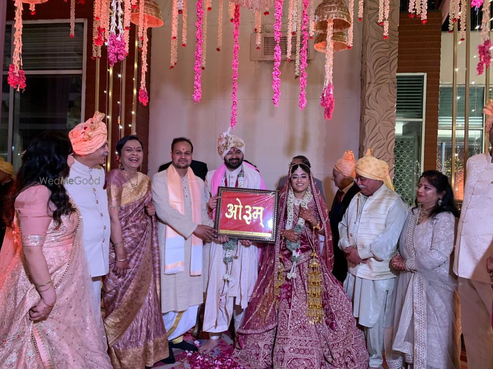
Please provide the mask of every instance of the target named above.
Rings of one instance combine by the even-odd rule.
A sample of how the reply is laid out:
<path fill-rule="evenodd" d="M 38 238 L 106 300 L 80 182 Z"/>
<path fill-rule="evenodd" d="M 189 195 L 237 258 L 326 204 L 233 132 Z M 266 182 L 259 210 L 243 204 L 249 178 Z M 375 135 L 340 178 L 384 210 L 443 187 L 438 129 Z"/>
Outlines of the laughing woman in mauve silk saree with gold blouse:
<path fill-rule="evenodd" d="M 114 369 L 152 367 L 167 358 L 161 316 L 157 221 L 149 177 L 138 171 L 143 148 L 137 136 L 116 144 L 120 168 L 106 174 L 111 242 L 103 305 Z"/>

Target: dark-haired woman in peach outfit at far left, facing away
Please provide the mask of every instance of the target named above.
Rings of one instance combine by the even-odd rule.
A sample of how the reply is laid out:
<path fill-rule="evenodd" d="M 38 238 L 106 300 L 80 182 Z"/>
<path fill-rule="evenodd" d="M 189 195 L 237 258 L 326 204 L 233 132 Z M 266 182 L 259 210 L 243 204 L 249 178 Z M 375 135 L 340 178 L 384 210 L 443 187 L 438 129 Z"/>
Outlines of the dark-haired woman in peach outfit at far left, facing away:
<path fill-rule="evenodd" d="M 5 201 L 2 369 L 111 369 L 101 316 L 92 308 L 82 222 L 60 183 L 69 174 L 70 154 L 67 137 L 36 137 Z"/>

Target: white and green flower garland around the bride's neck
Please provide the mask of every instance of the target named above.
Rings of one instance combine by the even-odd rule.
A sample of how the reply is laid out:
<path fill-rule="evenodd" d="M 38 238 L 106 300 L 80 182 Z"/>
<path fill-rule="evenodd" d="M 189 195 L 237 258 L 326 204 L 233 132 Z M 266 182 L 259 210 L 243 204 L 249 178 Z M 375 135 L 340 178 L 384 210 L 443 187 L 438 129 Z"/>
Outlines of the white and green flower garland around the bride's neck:
<path fill-rule="evenodd" d="M 310 190 L 310 186 L 306 189 L 305 195 L 301 199 L 301 203 L 299 204 L 302 208 L 307 208 L 307 205 L 313 199 L 312 191 Z M 299 200 L 297 200 L 294 196 L 294 191 L 292 188 L 289 188 L 289 192 L 287 195 L 287 220 L 286 220 L 286 229 L 293 229 L 296 233 L 301 233 L 303 228 L 305 227 L 305 219 L 301 216 L 298 217 L 298 221 L 294 225 L 294 207 L 295 203 L 297 204 Z M 300 261 L 301 250 L 300 250 L 300 241 L 292 242 L 286 239 L 286 248 L 291 251 L 291 262 L 293 265 L 291 266 L 291 271 L 287 274 L 287 279 L 296 278 L 296 263 Z"/>

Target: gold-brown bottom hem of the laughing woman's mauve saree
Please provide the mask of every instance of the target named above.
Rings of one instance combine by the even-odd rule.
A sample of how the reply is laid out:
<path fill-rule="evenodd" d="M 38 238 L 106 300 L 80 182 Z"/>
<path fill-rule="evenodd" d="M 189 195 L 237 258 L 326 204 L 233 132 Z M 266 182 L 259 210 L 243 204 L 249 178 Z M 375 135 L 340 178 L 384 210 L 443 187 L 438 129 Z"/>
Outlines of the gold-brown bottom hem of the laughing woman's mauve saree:
<path fill-rule="evenodd" d="M 163 336 L 152 341 L 146 341 L 141 347 L 124 349 L 109 347 L 108 354 L 113 369 L 142 368 L 142 364 L 145 364 L 146 367 L 152 367 L 170 355 L 168 337 Z"/>

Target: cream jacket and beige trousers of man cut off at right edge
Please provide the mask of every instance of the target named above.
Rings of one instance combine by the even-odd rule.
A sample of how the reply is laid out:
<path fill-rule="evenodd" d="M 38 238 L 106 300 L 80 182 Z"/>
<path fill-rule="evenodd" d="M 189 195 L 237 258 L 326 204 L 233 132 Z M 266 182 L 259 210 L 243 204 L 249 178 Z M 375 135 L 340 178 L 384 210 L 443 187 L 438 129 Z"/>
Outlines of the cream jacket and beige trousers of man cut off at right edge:
<path fill-rule="evenodd" d="M 486 271 L 486 260 L 492 254 L 493 163 L 485 153 L 467 160 L 454 259 L 469 369 L 493 369 L 493 292 Z"/>

